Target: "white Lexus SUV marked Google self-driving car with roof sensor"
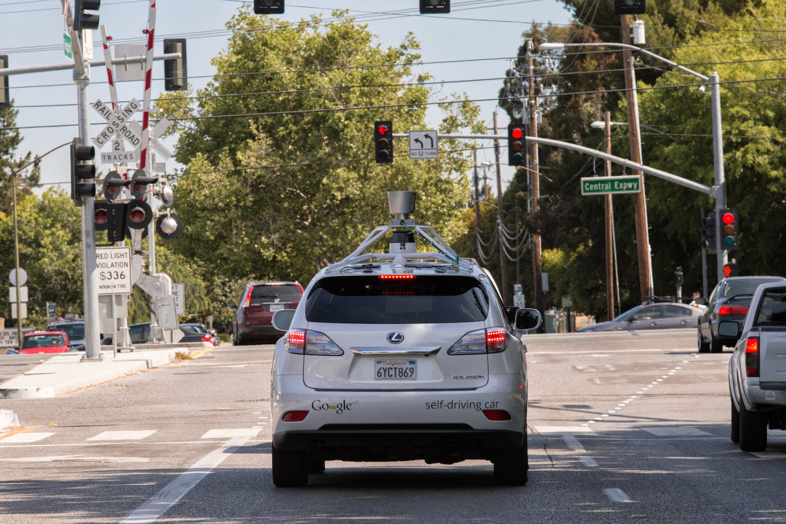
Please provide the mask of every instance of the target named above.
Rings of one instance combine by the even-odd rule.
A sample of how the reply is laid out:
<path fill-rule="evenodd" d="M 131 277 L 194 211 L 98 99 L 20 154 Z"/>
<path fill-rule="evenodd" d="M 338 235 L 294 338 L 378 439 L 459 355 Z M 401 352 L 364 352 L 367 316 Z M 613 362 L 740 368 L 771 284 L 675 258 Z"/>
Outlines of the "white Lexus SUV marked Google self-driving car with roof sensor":
<path fill-rule="evenodd" d="M 274 313 L 275 486 L 305 486 L 325 460 L 490 460 L 497 484 L 527 482 L 519 335 L 541 315 L 505 307 L 485 269 L 410 218 L 414 197 L 390 192 L 395 219 Z M 389 252 L 366 252 L 387 233 Z"/>

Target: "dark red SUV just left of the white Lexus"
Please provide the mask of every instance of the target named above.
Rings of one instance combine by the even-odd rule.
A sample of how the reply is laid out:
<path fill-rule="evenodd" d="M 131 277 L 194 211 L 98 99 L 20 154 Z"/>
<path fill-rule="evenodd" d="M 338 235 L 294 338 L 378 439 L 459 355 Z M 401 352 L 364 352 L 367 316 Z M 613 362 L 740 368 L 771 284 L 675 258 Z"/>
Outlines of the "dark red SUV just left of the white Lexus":
<path fill-rule="evenodd" d="M 232 343 L 243 346 L 281 338 L 271 323 L 273 313 L 294 310 L 303 297 L 303 286 L 297 282 L 262 282 L 246 284 L 237 312 L 232 320 Z"/>

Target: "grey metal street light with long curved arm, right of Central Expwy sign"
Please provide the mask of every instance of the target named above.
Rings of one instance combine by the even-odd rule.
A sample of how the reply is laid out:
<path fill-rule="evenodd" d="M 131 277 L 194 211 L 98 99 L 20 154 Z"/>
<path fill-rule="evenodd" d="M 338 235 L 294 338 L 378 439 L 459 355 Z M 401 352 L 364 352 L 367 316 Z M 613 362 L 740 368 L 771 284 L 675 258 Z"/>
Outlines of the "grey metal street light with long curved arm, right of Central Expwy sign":
<path fill-rule="evenodd" d="M 705 82 L 709 82 L 710 84 L 710 95 L 711 95 L 711 104 L 712 104 L 712 150 L 713 150 L 713 157 L 714 157 L 714 170 L 715 170 L 715 179 L 714 179 L 714 187 L 713 193 L 711 196 L 715 199 L 715 210 L 719 213 L 722 209 L 726 207 L 726 191 L 725 191 L 725 174 L 723 169 L 723 129 L 721 123 L 721 89 L 720 89 L 720 77 L 718 76 L 718 71 L 712 71 L 712 75 L 706 76 L 702 75 L 701 73 L 697 73 L 692 69 L 686 68 L 676 62 L 669 60 L 668 58 L 661 57 L 656 53 L 652 53 L 647 49 L 641 49 L 641 47 L 632 46 L 630 44 L 624 44 L 620 42 L 588 42 L 588 43 L 575 43 L 575 44 L 566 44 L 566 43 L 557 43 L 557 42 L 543 42 L 540 45 L 540 49 L 564 49 L 565 47 L 619 47 L 622 49 L 629 49 L 637 51 L 638 53 L 644 53 L 648 57 L 656 58 L 670 66 L 678 68 L 680 71 L 684 71 L 689 75 L 693 75 L 698 79 L 701 79 Z M 631 67 L 631 71 L 633 68 Z M 636 83 L 634 82 L 634 89 Z M 635 93 L 635 91 L 634 91 Z M 635 108 L 636 116 L 638 116 L 638 107 Z M 638 118 L 635 119 L 636 125 L 638 126 Z M 638 130 L 637 130 L 638 134 Z M 641 145 L 640 145 L 641 147 Z M 718 225 L 720 227 L 720 225 Z M 716 232 L 716 248 L 718 250 L 718 280 L 723 278 L 723 266 L 725 266 L 726 262 L 729 261 L 729 252 L 724 249 L 724 246 L 721 244 L 721 236 L 720 231 Z"/>

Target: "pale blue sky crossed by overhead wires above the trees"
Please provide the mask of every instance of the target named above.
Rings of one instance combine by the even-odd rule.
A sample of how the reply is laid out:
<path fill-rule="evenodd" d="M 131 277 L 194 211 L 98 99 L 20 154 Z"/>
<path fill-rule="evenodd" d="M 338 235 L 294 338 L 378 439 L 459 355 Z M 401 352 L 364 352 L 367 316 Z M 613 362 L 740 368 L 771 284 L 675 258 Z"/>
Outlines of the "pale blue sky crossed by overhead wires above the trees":
<path fill-rule="evenodd" d="M 71 3 L 73 5 L 73 0 Z M 163 53 L 163 38 L 187 38 L 189 85 L 203 87 L 215 73 L 211 58 L 226 48 L 226 21 L 242 3 L 240 0 L 157 0 L 154 53 Z M 424 64 L 414 72 L 428 71 L 435 80 L 451 82 L 443 92 L 467 93 L 472 100 L 491 99 L 479 102 L 481 118 L 487 126 L 492 125 L 496 109 L 494 99 L 501 86 L 498 79 L 505 75 L 510 57 L 522 44 L 522 32 L 527 31 L 532 22 L 567 24 L 570 20 L 570 13 L 556 0 L 453 0 L 451 12 L 440 16 L 421 15 L 418 0 L 286 0 L 285 13 L 275 16 L 282 20 L 300 20 L 322 13 L 327 18 L 333 9 L 349 9 L 352 16 L 358 17 L 358 22 L 368 24 L 369 31 L 383 46 L 399 46 L 412 31 L 421 42 L 424 62 L 473 60 Z M 148 23 L 149 0 L 104 0 L 97 13 L 101 25 L 105 25 L 108 35 L 112 36 L 113 45 L 146 42 L 142 31 Z M 0 0 L 0 20 L 3 21 L 0 55 L 9 56 L 9 67 L 70 61 L 64 55 L 64 19 L 59 0 Z M 93 31 L 93 37 L 94 59 L 103 60 L 101 31 Z M 163 61 L 153 63 L 152 79 L 152 98 L 155 99 L 164 90 Z M 17 156 L 28 151 L 42 155 L 58 145 L 70 143 L 78 135 L 77 94 L 72 70 L 12 75 L 9 85 L 14 106 L 19 110 L 17 126 L 22 128 L 24 138 Z M 116 86 L 121 103 L 131 98 L 143 100 L 143 81 L 116 82 Z M 90 75 L 90 103 L 98 99 L 106 104 L 111 102 L 104 66 L 92 68 Z M 428 118 L 435 128 L 439 112 L 428 113 Z M 141 123 L 141 112 L 132 119 Z M 93 136 L 102 129 L 101 124 L 105 124 L 92 108 L 90 122 Z M 506 113 L 499 110 L 499 128 L 505 129 L 507 125 Z M 406 130 L 395 129 L 395 132 Z M 162 139 L 162 144 L 174 151 L 175 141 L 176 137 L 167 137 Z M 396 148 L 399 155 L 404 144 L 406 141 L 399 139 Z M 480 145 L 490 145 L 490 141 Z M 108 150 L 107 145 L 101 151 Z M 503 152 L 503 163 L 504 156 Z M 98 151 L 96 157 L 98 162 Z M 493 160 L 493 149 L 479 151 L 479 163 Z M 68 190 L 69 163 L 67 146 L 42 159 L 42 189 L 61 184 Z M 170 173 L 182 168 L 174 159 L 169 159 L 166 166 Z M 106 172 L 109 167 L 111 164 L 103 164 L 97 169 Z M 492 174 L 489 171 L 489 175 Z M 503 166 L 503 185 L 512 174 L 512 168 Z"/>

